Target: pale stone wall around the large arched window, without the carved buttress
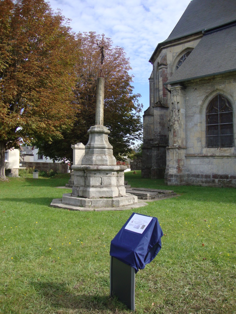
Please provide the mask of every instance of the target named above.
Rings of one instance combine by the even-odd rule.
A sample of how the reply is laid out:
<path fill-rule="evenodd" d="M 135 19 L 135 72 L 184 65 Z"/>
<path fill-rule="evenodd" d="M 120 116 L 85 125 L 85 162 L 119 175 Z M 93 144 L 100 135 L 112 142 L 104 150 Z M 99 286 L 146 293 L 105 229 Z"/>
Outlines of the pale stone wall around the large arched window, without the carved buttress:
<path fill-rule="evenodd" d="M 236 148 L 207 148 L 205 145 L 205 111 L 209 101 L 217 93 L 225 95 L 233 106 L 234 143 L 236 143 L 235 76 L 203 79 L 186 85 L 186 170 L 180 173 L 182 184 L 236 187 Z M 170 160 L 167 164 L 176 163 L 175 156 L 171 156 L 169 152 L 168 154 Z M 178 176 L 169 176 L 167 181 L 172 185 L 180 184 Z"/>

